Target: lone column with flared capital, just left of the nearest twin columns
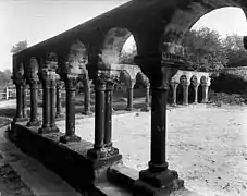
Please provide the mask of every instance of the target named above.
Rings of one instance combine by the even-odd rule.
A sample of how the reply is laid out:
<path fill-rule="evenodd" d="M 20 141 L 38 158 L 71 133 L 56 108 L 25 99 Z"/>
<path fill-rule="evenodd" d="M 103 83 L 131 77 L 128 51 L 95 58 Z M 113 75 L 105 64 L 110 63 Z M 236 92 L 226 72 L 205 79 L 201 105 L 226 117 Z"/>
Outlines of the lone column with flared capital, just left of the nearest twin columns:
<path fill-rule="evenodd" d="M 75 135 L 75 91 L 77 74 L 65 74 L 61 76 L 66 88 L 66 130 L 65 135 L 60 137 L 61 143 L 79 142 L 81 137 Z"/>

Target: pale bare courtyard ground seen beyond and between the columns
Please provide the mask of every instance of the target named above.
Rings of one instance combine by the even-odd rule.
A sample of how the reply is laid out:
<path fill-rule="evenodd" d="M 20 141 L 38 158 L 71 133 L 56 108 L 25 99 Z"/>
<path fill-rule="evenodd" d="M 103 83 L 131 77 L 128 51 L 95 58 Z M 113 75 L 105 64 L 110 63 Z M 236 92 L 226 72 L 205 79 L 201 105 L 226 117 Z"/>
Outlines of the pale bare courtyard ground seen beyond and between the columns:
<path fill-rule="evenodd" d="M 168 111 L 168 161 L 186 187 L 205 196 L 247 195 L 247 107 L 206 105 Z M 65 123 L 58 122 L 64 132 Z M 94 142 L 94 118 L 76 120 L 76 133 Z M 113 117 L 113 143 L 124 163 L 146 169 L 150 113 Z"/>

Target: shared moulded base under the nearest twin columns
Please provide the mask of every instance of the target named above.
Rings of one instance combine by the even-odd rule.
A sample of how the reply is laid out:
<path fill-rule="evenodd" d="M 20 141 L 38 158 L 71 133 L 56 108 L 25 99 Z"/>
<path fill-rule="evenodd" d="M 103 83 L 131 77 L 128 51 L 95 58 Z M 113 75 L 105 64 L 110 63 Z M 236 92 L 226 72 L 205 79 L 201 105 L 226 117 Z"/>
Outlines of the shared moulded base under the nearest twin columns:
<path fill-rule="evenodd" d="M 122 155 L 120 155 L 119 149 L 114 147 L 101 149 L 92 148 L 87 151 L 87 158 L 94 162 L 95 168 L 99 168 L 120 161 L 122 159 Z"/>

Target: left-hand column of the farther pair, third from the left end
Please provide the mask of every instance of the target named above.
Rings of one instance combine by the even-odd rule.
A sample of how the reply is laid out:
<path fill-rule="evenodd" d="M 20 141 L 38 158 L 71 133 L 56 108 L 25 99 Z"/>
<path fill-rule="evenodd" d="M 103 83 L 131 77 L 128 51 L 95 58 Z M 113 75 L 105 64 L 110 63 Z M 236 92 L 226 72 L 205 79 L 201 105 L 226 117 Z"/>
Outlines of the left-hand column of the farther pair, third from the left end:
<path fill-rule="evenodd" d="M 42 126 L 38 130 L 40 134 L 51 132 L 50 130 L 50 73 L 48 69 L 42 69 L 39 73 L 42 83 Z"/>

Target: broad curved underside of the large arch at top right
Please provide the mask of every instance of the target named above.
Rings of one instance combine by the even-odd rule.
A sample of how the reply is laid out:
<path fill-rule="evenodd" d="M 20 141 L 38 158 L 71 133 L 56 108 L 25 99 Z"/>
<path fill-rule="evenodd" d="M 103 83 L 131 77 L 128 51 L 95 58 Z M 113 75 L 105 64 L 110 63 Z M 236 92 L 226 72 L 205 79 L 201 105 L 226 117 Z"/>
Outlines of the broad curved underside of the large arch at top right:
<path fill-rule="evenodd" d="M 190 1 L 189 3 L 178 4 L 164 27 L 163 40 L 166 42 L 181 45 L 185 34 L 200 17 L 210 13 L 211 11 L 227 7 L 242 8 L 243 5 L 240 1 L 234 0 L 201 0 L 197 2 Z M 244 7 L 242 9 L 245 12 Z"/>

